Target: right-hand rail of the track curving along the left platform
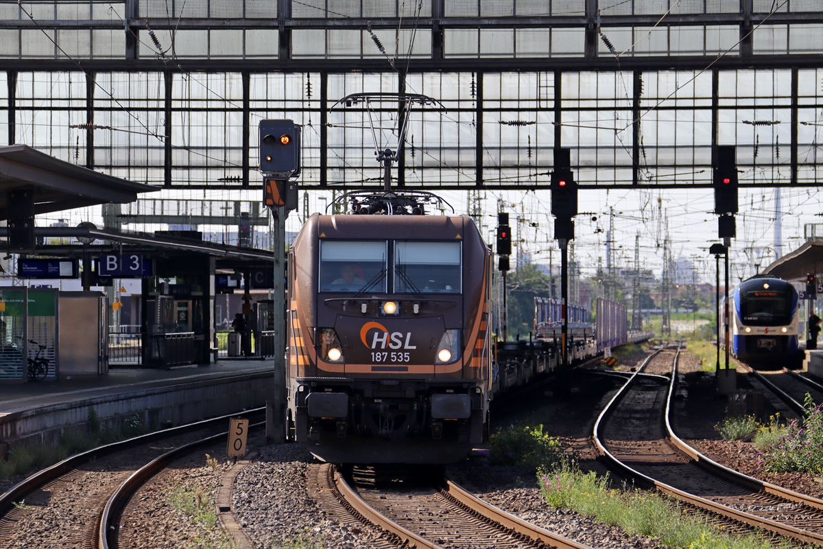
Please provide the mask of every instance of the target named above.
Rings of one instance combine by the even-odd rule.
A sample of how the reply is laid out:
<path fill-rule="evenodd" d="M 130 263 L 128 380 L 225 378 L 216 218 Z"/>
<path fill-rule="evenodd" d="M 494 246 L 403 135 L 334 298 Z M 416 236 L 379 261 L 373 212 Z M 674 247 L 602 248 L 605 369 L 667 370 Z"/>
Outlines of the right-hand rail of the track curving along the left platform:
<path fill-rule="evenodd" d="M 258 410 L 264 409 L 265 408 L 258 408 Z M 252 430 L 259 430 L 265 426 L 265 421 L 253 423 L 252 425 L 249 425 L 249 432 Z M 128 505 L 128 500 L 132 497 L 132 495 L 134 495 L 135 492 L 137 492 L 137 489 L 139 489 L 140 486 L 151 479 L 151 477 L 154 477 L 158 472 L 166 468 L 166 466 L 170 463 L 174 462 L 174 460 L 182 458 L 184 455 L 200 448 L 201 446 L 216 443 L 225 438 L 228 434 L 229 431 L 225 431 L 217 435 L 208 436 L 205 439 L 184 444 L 183 446 L 179 446 L 178 448 L 170 450 L 169 452 L 152 459 L 149 463 L 143 465 L 142 468 L 139 468 L 137 471 L 133 472 L 132 475 L 123 481 L 118 489 L 114 491 L 114 494 L 109 496 L 109 500 L 106 501 L 105 507 L 103 508 L 103 513 L 100 515 L 100 526 L 97 530 L 97 547 L 100 547 L 100 549 L 118 547 L 117 535 L 119 529 L 114 528 L 112 522 L 119 516 L 123 508 Z"/>

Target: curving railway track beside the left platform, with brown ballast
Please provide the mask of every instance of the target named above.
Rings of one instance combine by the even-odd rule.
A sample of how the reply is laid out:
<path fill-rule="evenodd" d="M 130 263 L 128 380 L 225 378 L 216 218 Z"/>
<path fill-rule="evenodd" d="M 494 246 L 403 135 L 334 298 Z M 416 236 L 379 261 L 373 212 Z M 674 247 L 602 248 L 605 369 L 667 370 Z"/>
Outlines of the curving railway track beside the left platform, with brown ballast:
<path fill-rule="evenodd" d="M 36 472 L 0 495 L 0 547 L 116 547 L 108 536 L 116 536 L 133 490 L 170 461 L 225 437 L 229 417 L 106 444 Z"/>

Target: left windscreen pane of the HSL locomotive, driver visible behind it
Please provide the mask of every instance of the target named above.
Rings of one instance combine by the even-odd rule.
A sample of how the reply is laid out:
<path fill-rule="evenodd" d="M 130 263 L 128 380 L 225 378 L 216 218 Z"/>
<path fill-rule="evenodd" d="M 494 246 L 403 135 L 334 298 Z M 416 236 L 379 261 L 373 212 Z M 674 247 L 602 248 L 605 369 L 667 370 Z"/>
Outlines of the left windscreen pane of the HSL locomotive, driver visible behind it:
<path fill-rule="evenodd" d="M 320 241 L 319 291 L 386 291 L 386 242 Z"/>

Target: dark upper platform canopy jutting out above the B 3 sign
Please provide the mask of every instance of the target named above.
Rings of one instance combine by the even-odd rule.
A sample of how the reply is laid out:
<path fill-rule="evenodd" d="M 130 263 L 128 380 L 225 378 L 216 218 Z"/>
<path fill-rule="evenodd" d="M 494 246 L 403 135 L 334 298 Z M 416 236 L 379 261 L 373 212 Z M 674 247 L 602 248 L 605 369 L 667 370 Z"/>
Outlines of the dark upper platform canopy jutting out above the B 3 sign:
<path fill-rule="evenodd" d="M 35 190 L 35 215 L 134 202 L 138 193 L 159 190 L 58 160 L 27 145 L 0 147 L 0 220 L 8 219 L 7 190 L 26 187 Z"/>

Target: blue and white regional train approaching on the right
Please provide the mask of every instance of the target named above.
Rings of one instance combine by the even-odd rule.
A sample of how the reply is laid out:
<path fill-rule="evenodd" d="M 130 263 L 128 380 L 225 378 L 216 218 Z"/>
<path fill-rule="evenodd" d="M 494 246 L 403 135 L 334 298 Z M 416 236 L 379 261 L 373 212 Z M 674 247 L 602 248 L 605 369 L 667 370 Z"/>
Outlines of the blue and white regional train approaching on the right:
<path fill-rule="evenodd" d="M 797 360 L 798 295 L 791 282 L 774 277 L 753 277 L 732 291 L 729 307 L 729 352 L 751 364 L 782 368 Z M 718 318 L 723 319 L 725 299 Z M 726 330 L 721 324 L 720 343 Z"/>

